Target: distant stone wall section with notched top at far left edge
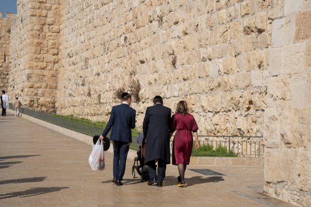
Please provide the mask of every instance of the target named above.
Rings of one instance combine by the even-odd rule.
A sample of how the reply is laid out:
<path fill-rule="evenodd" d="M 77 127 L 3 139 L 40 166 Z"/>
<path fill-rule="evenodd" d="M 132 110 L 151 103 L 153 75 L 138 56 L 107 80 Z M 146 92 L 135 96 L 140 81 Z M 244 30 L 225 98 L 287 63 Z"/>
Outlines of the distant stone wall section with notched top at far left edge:
<path fill-rule="evenodd" d="M 15 18 L 15 14 L 6 13 L 6 17 L 2 17 L 0 12 L 0 89 L 8 90 L 9 60 L 10 60 L 10 33 L 11 21 Z"/>

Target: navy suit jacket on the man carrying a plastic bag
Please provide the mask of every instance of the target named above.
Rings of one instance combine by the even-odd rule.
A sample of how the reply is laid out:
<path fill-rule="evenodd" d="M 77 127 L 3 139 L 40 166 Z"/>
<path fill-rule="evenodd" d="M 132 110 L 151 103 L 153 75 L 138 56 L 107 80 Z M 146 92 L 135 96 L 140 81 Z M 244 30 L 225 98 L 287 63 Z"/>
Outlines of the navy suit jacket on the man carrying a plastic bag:
<path fill-rule="evenodd" d="M 131 128 L 135 128 L 136 111 L 126 103 L 112 107 L 109 122 L 103 132 L 105 137 L 110 131 L 109 139 L 112 141 L 132 142 Z"/>

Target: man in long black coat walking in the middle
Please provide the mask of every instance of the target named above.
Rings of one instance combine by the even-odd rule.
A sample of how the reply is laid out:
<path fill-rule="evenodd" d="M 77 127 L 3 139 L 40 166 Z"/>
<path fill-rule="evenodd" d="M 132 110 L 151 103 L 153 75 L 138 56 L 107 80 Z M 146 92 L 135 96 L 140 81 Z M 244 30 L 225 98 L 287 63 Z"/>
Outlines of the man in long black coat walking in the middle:
<path fill-rule="evenodd" d="M 149 166 L 150 176 L 148 185 L 157 182 L 158 187 L 162 187 L 166 165 L 170 163 L 170 121 L 171 109 L 163 106 L 161 96 L 155 96 L 153 98 L 153 107 L 147 108 L 143 122 L 143 133 L 146 142 L 145 163 Z M 156 160 L 158 160 L 158 177 Z"/>

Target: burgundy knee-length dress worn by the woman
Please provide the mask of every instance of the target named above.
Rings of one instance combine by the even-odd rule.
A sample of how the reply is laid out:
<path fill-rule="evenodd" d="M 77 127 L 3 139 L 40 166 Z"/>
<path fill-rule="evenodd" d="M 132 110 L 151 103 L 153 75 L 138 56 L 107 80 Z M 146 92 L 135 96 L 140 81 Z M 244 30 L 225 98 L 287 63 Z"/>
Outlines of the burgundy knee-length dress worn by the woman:
<path fill-rule="evenodd" d="M 197 122 L 191 114 L 174 114 L 171 118 L 170 132 L 175 130 L 172 164 L 189 164 L 193 147 L 192 132 L 198 130 Z"/>

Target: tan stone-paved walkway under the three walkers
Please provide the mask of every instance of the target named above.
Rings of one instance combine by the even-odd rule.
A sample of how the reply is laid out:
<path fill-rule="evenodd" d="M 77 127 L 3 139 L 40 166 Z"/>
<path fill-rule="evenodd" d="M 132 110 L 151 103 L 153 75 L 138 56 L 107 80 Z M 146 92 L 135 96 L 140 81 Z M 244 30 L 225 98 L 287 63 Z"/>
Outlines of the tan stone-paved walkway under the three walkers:
<path fill-rule="evenodd" d="M 264 194 L 262 167 L 209 168 L 225 176 L 186 170 L 188 187 L 176 187 L 169 165 L 163 187 L 131 176 L 128 160 L 123 186 L 111 183 L 112 154 L 106 169 L 88 164 L 91 146 L 38 124 L 0 117 L 0 206 L 292 206 Z"/>

